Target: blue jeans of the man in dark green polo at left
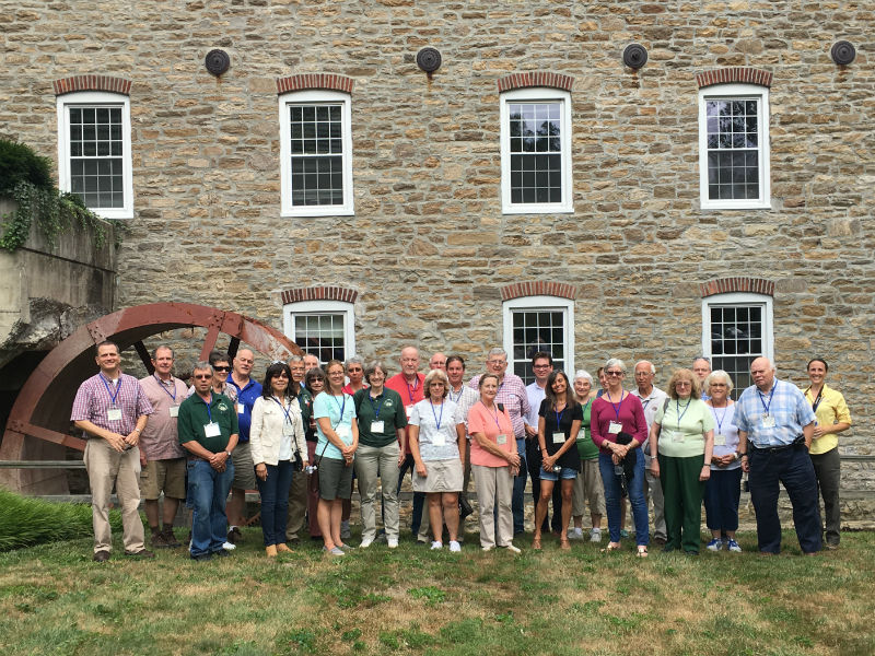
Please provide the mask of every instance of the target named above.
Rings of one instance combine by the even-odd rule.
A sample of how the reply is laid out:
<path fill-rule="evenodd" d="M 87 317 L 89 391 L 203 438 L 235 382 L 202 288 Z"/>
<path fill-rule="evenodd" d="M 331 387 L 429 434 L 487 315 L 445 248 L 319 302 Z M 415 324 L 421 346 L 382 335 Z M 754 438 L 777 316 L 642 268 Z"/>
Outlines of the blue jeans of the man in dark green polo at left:
<path fill-rule="evenodd" d="M 206 460 L 188 461 L 188 496 L 195 508 L 191 517 L 191 555 L 221 551 L 228 539 L 225 501 L 234 479 L 234 464 L 215 471 Z"/>

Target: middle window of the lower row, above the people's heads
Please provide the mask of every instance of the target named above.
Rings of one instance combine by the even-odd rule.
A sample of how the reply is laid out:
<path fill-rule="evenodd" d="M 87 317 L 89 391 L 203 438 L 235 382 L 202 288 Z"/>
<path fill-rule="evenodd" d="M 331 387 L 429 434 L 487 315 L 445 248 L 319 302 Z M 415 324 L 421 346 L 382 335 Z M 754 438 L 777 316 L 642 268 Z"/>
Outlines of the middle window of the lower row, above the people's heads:
<path fill-rule="evenodd" d="M 553 368 L 573 377 L 573 301 L 558 296 L 523 296 L 505 301 L 502 313 L 509 371 L 528 385 L 535 380 L 532 356 L 546 351 L 553 358 Z"/>

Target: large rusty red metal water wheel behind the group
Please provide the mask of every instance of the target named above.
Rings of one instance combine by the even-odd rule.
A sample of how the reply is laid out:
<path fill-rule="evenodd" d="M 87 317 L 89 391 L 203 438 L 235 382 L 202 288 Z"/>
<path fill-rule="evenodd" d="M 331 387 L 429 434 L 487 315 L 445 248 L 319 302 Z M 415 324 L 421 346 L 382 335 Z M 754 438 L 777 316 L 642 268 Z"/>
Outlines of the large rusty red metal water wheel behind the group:
<path fill-rule="evenodd" d="M 96 372 L 94 344 L 116 342 L 121 351 L 133 348 L 149 373 L 152 362 L 143 340 L 180 328 L 207 330 L 199 360 L 206 360 L 220 335 L 228 335 L 229 351 L 243 342 L 269 360 L 302 354 L 279 330 L 243 316 L 190 303 L 153 303 L 114 312 L 96 319 L 59 343 L 34 370 L 19 393 L 7 422 L 0 460 L 48 461 L 63 459 L 66 448 L 84 450 L 85 443 L 70 435 L 70 410 L 77 389 Z M 34 494 L 66 492 L 62 468 L 0 469 L 0 484 Z"/>

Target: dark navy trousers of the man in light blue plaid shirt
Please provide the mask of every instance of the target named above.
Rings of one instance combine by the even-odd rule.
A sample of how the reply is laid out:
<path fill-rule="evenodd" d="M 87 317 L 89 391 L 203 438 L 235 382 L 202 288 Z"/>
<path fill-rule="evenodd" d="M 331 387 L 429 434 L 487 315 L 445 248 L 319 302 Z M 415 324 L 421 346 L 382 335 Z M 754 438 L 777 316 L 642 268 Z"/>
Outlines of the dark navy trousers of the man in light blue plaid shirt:
<path fill-rule="evenodd" d="M 749 448 L 749 447 L 748 447 Z M 800 547 L 805 553 L 820 551 L 820 507 L 817 500 L 817 478 L 808 450 L 788 447 L 781 450 L 752 448 L 750 461 L 750 502 L 757 514 L 757 542 L 760 551 L 780 553 L 781 519 L 778 516 L 778 495 L 782 482 L 793 504 L 793 524 Z"/>

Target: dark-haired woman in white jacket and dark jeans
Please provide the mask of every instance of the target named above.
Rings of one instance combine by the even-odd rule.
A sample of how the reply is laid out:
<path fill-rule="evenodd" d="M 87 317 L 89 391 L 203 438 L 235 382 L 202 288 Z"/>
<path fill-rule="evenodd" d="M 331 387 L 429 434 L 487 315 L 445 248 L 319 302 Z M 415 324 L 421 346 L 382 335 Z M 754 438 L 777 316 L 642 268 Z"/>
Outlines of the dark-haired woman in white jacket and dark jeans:
<path fill-rule="evenodd" d="M 290 552 L 285 546 L 289 487 L 293 471 L 307 465 L 307 446 L 301 407 L 292 393 L 289 365 L 275 362 L 267 367 L 261 396 L 253 407 L 249 430 L 255 476 L 261 495 L 261 531 L 268 557 Z"/>

